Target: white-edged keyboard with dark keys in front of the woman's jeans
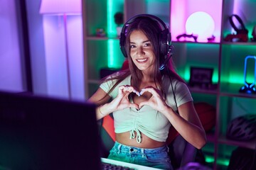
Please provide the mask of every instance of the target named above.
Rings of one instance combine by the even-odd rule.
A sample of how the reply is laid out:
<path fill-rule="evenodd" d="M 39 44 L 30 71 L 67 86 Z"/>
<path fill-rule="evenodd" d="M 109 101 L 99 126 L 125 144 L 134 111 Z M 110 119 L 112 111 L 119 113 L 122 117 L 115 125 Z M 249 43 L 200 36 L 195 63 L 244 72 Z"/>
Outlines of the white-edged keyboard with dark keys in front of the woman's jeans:
<path fill-rule="evenodd" d="M 119 162 L 112 159 L 101 158 L 102 170 L 120 169 L 120 170 L 157 170 L 148 166 Z"/>

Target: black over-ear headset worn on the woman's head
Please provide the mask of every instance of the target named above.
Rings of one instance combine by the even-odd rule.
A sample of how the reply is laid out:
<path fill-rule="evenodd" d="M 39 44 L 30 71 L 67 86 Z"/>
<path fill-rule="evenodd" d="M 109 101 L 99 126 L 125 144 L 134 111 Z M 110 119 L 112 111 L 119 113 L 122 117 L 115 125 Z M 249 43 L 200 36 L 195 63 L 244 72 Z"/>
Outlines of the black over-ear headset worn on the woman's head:
<path fill-rule="evenodd" d="M 159 69 L 162 70 L 164 69 L 166 63 L 169 61 L 171 58 L 171 33 L 169 31 L 168 26 L 162 21 L 160 18 L 150 15 L 150 14 L 139 14 L 137 16 L 134 16 L 130 18 L 126 23 L 124 23 L 124 26 L 122 28 L 122 31 L 120 33 L 119 37 L 119 45 L 122 51 L 122 54 L 124 57 L 127 57 L 127 52 L 125 50 L 125 40 L 126 40 L 126 35 L 127 35 L 127 28 L 129 27 L 129 24 L 134 22 L 135 19 L 137 18 L 150 18 L 152 21 L 156 21 L 159 24 L 159 27 L 161 27 L 161 32 L 159 33 L 159 47 L 160 47 L 160 55 L 161 57 L 164 57 L 163 59 L 160 58 L 162 63 L 160 63 Z"/>

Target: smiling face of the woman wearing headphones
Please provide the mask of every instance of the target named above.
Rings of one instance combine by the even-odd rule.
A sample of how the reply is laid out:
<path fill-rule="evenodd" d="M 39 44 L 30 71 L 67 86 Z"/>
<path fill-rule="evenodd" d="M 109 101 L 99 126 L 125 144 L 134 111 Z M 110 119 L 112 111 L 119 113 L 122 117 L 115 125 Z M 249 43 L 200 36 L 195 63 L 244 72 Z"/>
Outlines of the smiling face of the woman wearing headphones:
<path fill-rule="evenodd" d="M 130 35 L 130 55 L 138 69 L 153 70 L 155 64 L 154 49 L 151 42 L 141 30 L 134 30 Z"/>

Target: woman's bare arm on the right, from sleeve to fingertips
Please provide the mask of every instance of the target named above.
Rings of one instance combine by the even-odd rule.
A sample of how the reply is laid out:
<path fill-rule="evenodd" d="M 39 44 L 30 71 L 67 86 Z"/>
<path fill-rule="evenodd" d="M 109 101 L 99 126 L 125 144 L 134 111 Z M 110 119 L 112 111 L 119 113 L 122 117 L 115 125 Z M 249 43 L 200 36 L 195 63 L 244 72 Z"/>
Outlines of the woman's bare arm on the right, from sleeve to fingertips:
<path fill-rule="evenodd" d="M 158 89 L 148 87 L 142 90 L 142 94 L 145 91 L 150 92 L 152 96 L 149 101 L 140 103 L 139 108 L 148 105 L 156 111 L 163 113 L 178 133 L 194 147 L 201 149 L 206 145 L 206 132 L 198 118 L 198 114 L 196 113 L 192 101 L 178 106 L 178 114 L 166 104 Z"/>

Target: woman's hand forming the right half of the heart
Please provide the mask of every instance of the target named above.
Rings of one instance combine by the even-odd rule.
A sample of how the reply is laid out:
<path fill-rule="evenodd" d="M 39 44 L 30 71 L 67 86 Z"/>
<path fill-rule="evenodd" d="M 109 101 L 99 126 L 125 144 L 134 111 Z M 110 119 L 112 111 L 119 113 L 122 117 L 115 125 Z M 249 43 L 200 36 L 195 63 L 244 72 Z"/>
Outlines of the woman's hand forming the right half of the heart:
<path fill-rule="evenodd" d="M 152 96 L 151 98 L 149 98 L 148 101 L 142 101 L 141 103 L 139 103 L 139 108 L 142 108 L 142 106 L 147 105 L 151 106 L 151 108 L 154 108 L 154 110 L 156 111 L 164 113 L 164 110 L 169 106 L 167 106 L 166 102 L 164 101 L 164 97 L 161 95 L 159 89 L 155 89 L 154 87 L 146 87 L 142 89 L 140 95 L 143 95 L 146 91 L 151 93 Z"/>

